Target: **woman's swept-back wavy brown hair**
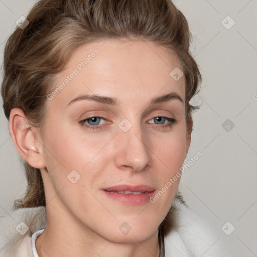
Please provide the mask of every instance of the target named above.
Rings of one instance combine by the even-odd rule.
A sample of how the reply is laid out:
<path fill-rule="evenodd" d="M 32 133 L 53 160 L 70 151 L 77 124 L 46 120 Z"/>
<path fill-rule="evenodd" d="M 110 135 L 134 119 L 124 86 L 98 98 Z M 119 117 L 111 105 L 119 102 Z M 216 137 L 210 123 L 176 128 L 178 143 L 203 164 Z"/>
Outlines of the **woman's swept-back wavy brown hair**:
<path fill-rule="evenodd" d="M 5 47 L 2 97 L 8 119 L 12 108 L 18 107 L 34 126 L 41 127 L 54 75 L 78 46 L 108 38 L 134 37 L 175 51 L 186 80 L 186 120 L 199 108 L 189 103 L 201 82 L 189 51 L 189 26 L 170 0 L 41 0 L 27 20 L 29 24 L 17 27 Z M 45 206 L 40 170 L 26 162 L 25 169 L 27 192 L 14 207 Z M 169 213 L 160 225 L 163 234 L 169 231 Z"/>

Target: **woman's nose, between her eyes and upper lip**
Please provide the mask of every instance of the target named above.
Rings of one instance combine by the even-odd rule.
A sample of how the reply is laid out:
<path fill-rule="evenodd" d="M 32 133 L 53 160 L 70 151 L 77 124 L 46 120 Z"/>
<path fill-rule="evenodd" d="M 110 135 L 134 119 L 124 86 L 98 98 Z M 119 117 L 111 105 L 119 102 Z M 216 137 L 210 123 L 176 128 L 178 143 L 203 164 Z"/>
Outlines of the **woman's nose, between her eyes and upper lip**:
<path fill-rule="evenodd" d="M 119 169 L 140 172 L 152 165 L 151 142 L 140 125 L 133 124 L 127 132 L 119 130 L 116 142 L 115 164 Z"/>

